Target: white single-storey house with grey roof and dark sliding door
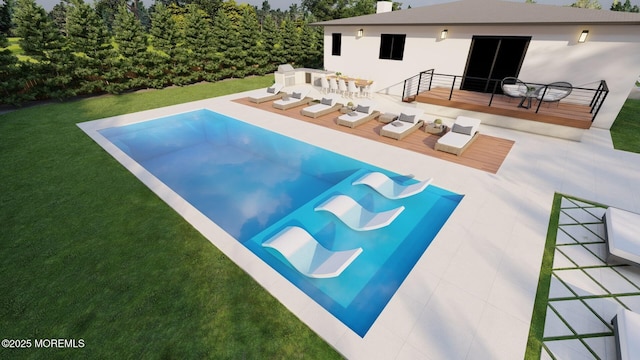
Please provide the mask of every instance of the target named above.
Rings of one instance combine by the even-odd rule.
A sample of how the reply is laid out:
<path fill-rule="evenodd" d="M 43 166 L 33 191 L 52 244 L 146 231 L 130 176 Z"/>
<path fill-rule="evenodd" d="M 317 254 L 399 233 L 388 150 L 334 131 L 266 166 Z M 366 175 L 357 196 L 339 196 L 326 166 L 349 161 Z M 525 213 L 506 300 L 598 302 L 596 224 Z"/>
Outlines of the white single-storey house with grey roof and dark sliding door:
<path fill-rule="evenodd" d="M 467 86 L 485 93 L 507 76 L 594 94 L 606 84 L 606 101 L 586 127 L 609 129 L 640 74 L 637 13 L 499 0 L 386 12 L 390 3 L 378 4 L 376 14 L 314 25 L 324 27 L 325 68 L 374 79 L 379 93 L 403 96 L 405 80 L 428 69 L 462 79 L 456 86 L 486 78 Z"/>

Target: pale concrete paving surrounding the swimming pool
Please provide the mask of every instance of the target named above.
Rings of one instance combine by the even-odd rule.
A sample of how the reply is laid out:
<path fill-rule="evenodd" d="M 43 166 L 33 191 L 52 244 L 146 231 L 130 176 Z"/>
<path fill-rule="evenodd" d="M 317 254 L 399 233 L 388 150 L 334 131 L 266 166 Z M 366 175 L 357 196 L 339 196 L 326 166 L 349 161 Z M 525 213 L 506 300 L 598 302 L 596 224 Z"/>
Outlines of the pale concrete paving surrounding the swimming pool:
<path fill-rule="evenodd" d="M 481 125 L 484 134 L 515 141 L 498 173 L 490 174 L 232 101 L 250 94 L 118 116 L 107 123 L 209 108 L 416 179 L 433 177 L 434 185 L 465 195 L 361 338 L 150 174 L 134 172 L 350 359 L 523 358 L 554 193 L 640 212 L 640 154 L 613 150 L 606 130 L 591 129 L 582 142 L 573 142 Z M 386 106 L 406 105 L 380 100 L 385 111 L 396 110 Z"/>

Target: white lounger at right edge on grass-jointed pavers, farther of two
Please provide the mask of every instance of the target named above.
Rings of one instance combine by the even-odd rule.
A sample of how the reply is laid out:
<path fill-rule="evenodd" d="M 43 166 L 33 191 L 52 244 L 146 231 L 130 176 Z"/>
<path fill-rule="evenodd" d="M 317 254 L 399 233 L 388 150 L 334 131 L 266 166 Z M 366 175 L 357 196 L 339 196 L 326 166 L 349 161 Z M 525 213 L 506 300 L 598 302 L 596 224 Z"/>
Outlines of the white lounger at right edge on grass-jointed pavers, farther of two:
<path fill-rule="evenodd" d="M 602 221 L 607 263 L 640 266 L 640 214 L 609 207 Z"/>

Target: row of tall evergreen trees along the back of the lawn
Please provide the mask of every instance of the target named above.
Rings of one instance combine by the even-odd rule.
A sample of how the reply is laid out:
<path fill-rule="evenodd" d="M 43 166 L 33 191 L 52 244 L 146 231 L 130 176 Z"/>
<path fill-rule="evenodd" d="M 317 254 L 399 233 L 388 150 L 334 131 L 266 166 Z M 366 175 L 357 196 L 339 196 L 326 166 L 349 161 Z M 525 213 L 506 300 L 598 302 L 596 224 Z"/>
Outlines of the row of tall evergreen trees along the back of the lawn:
<path fill-rule="evenodd" d="M 11 25 L 0 22 L 0 48 L 12 31 L 28 61 L 0 52 L 0 103 L 262 75 L 283 63 L 322 66 L 322 30 L 308 26 L 311 17 L 262 11 L 259 19 L 256 8 L 233 1 L 215 10 L 158 1 L 148 11 L 113 1 L 113 14 L 83 0 L 47 14 L 34 0 L 17 0 Z"/>

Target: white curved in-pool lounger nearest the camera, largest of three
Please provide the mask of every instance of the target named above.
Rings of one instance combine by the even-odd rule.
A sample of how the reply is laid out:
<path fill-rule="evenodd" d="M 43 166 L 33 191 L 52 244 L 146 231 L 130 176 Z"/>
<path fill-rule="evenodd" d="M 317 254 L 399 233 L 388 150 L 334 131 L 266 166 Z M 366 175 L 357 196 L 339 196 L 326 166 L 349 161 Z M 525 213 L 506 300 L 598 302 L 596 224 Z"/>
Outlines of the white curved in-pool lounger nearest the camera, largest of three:
<path fill-rule="evenodd" d="M 331 251 L 297 226 L 286 227 L 262 246 L 277 250 L 296 270 L 311 278 L 337 277 L 362 253 L 362 248 Z"/>

